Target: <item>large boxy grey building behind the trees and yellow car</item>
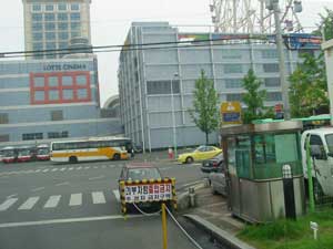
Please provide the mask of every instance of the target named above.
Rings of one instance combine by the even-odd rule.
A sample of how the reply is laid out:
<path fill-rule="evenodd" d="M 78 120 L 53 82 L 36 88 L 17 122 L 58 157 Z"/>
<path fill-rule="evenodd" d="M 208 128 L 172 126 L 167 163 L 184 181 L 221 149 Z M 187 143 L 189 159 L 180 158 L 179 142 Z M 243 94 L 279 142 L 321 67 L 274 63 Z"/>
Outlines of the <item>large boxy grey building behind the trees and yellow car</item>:
<path fill-rule="evenodd" d="M 268 91 L 265 105 L 282 103 L 274 39 L 274 35 L 184 33 L 168 22 L 132 23 L 118 71 L 125 136 L 147 149 L 172 146 L 174 113 L 178 145 L 204 144 L 204 134 L 188 111 L 201 70 L 213 80 L 221 102 L 242 100 L 242 79 L 252 68 Z M 310 34 L 284 35 L 284 40 L 289 48 L 285 48 L 289 74 L 301 61 L 300 53 L 314 53 L 321 43 Z M 134 45 L 161 42 L 169 44 Z M 216 143 L 218 137 L 213 133 L 210 141 Z"/>

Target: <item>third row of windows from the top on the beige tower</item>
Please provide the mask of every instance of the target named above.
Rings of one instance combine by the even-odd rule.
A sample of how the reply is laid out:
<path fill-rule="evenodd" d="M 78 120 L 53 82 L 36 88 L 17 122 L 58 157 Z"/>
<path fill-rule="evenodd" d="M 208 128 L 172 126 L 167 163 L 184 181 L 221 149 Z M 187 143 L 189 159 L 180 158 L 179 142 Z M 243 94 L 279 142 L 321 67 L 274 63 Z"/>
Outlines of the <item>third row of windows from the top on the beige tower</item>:
<path fill-rule="evenodd" d="M 31 24 L 32 32 L 43 32 L 43 28 L 46 31 L 54 31 L 56 28 L 59 31 L 68 31 L 69 28 L 72 31 L 78 31 L 81 29 L 81 22 L 33 22 Z"/>

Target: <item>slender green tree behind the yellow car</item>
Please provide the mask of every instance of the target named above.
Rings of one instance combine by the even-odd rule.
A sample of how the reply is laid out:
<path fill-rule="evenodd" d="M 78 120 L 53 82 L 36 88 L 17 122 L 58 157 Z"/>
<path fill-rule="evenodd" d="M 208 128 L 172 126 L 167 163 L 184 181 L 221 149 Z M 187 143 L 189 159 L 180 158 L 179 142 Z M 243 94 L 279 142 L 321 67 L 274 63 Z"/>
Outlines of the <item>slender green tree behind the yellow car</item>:
<path fill-rule="evenodd" d="M 205 76 L 203 70 L 195 81 L 193 94 L 193 110 L 190 110 L 190 115 L 195 125 L 205 133 L 205 143 L 209 144 L 209 134 L 219 125 L 218 94 L 213 81 Z"/>

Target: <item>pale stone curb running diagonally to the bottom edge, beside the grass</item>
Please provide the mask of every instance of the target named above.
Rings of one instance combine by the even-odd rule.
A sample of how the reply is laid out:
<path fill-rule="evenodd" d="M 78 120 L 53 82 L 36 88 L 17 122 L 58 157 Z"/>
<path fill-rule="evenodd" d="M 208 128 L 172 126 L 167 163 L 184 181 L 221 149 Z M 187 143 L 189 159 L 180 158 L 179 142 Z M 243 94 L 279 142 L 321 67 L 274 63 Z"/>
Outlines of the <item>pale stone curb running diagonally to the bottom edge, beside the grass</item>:
<path fill-rule="evenodd" d="M 254 247 L 249 246 L 228 231 L 216 227 L 215 225 L 196 215 L 183 215 L 183 217 L 196 224 L 209 234 L 211 234 L 216 240 L 223 242 L 226 246 L 230 246 L 232 249 L 255 249 Z"/>

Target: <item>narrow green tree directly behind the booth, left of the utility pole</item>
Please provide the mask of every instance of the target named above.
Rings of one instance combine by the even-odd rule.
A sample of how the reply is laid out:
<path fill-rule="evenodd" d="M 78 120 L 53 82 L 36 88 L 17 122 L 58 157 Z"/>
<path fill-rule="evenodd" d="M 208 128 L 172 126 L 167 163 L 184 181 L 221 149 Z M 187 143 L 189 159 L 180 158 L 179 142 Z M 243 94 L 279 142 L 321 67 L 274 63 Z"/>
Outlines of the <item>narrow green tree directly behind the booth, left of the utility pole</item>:
<path fill-rule="evenodd" d="M 243 102 L 246 104 L 248 110 L 243 112 L 243 123 L 250 124 L 253 120 L 268 117 L 263 111 L 264 100 L 266 97 L 265 90 L 259 90 L 262 82 L 255 76 L 252 69 L 249 70 L 248 74 L 243 79 L 243 87 L 246 93 L 243 95 Z"/>

